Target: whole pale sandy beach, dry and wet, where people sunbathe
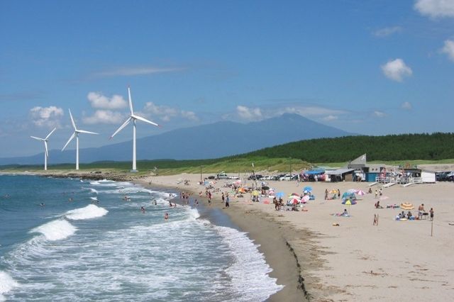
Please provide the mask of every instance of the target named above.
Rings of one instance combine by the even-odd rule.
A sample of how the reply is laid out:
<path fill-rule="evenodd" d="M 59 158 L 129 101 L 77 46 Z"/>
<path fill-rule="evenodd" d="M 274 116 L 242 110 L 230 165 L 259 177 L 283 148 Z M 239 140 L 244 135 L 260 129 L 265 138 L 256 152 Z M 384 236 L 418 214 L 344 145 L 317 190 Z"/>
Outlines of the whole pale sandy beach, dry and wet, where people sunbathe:
<path fill-rule="evenodd" d="M 184 179 L 189 185 L 184 185 Z M 199 174 L 179 174 L 149 177 L 142 182 L 204 192 L 199 180 Z M 232 181 L 218 180 L 214 184 L 220 189 L 214 193 L 214 206 L 223 206 L 220 196 L 222 191 L 231 192 L 224 187 L 228 182 Z M 375 194 L 358 196 L 360 200 L 352 206 L 344 206 L 338 199 L 324 200 L 325 189 L 367 192 L 367 184 L 269 181 L 269 186 L 286 194 L 301 194 L 304 186 L 312 186 L 316 200 L 306 204 L 307 211 L 275 211 L 272 203 L 250 202 L 250 194 L 231 198 L 231 208 L 224 211 L 260 245 L 273 269 L 271 276 L 285 285 L 270 301 L 452 301 L 454 225 L 449 223 L 454 223 L 454 184 L 397 184 L 384 188 L 381 209 L 374 206 L 378 200 Z M 372 186 L 372 191 L 375 189 L 380 186 Z M 198 194 L 194 198 L 199 198 Z M 202 200 L 206 202 L 206 198 Z M 434 208 L 432 236 L 430 220 L 397 221 L 395 216 L 402 210 L 386 208 L 387 204 L 405 201 L 415 206 L 411 210 L 414 215 L 421 203 L 426 211 Z M 342 213 L 344 208 L 350 217 L 331 215 Z M 379 216 L 378 225 L 373 225 L 375 214 Z"/>

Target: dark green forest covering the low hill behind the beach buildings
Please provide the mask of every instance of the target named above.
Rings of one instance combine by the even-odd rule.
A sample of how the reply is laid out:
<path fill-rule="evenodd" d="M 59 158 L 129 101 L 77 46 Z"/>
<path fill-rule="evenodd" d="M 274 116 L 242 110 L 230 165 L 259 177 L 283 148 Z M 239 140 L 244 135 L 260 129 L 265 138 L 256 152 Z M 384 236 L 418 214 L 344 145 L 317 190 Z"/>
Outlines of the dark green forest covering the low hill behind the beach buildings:
<path fill-rule="evenodd" d="M 454 133 L 344 136 L 300 140 L 238 157 L 292 157 L 306 162 L 348 162 L 367 154 L 367 161 L 454 159 Z"/>

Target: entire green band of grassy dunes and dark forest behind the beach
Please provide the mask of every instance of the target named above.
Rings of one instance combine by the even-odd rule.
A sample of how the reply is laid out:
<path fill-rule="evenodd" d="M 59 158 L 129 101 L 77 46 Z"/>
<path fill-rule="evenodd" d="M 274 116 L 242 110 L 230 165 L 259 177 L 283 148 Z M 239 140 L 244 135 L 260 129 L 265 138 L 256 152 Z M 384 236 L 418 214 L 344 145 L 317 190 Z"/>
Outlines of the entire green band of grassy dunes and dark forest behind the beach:
<path fill-rule="evenodd" d="M 356 157 L 367 154 L 368 162 L 392 165 L 454 163 L 454 133 L 403 134 L 384 136 L 345 136 L 300 140 L 262 150 L 208 160 L 140 160 L 140 174 L 213 174 L 221 171 L 244 173 L 267 170 L 290 172 L 314 166 L 341 167 Z M 254 167 L 253 167 L 254 164 Z M 9 165 L 3 170 L 34 171 L 38 165 Z M 52 170 L 71 172 L 74 164 L 50 165 Z M 131 162 L 92 162 L 80 164 L 86 171 L 128 172 Z"/>

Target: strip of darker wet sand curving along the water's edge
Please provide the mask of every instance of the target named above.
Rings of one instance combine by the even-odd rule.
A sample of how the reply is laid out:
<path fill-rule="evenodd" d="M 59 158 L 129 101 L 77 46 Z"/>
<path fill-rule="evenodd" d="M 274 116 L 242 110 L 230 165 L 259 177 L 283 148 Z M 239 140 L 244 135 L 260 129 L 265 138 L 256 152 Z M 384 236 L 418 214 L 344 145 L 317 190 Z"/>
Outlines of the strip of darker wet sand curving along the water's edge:
<path fill-rule="evenodd" d="M 305 278 L 301 276 L 301 263 L 306 263 L 309 259 L 300 259 L 300 256 L 294 251 L 292 247 L 292 241 L 297 238 L 297 231 L 294 230 L 290 225 L 282 225 L 277 223 L 274 219 L 270 219 L 270 216 L 262 216 L 260 213 L 252 211 L 244 211 L 242 205 L 238 202 L 231 202 L 231 207 L 228 210 L 223 209 L 224 205 L 221 202 L 219 194 L 214 194 L 211 206 L 208 205 L 207 198 L 205 196 L 199 196 L 199 191 L 193 186 L 184 186 L 184 184 L 171 184 L 171 183 L 160 183 L 152 181 L 158 177 L 133 177 L 131 174 L 92 174 L 87 172 L 67 172 L 67 173 L 55 173 L 55 172 L 18 172 L 18 173 L 7 173 L 7 174 L 26 174 L 35 175 L 40 177 L 55 177 L 55 178 L 67 178 L 67 177 L 79 177 L 82 179 L 109 179 L 114 181 L 131 181 L 135 184 L 140 184 L 145 188 L 153 189 L 170 189 L 175 191 L 185 191 L 191 194 L 190 198 L 197 198 L 200 203 L 207 209 L 220 209 L 224 215 L 235 225 L 239 230 L 248 233 L 250 240 L 256 245 L 259 245 L 258 250 L 265 257 L 265 261 L 272 269 L 270 276 L 277 279 L 276 283 L 283 285 L 284 287 L 274 293 L 272 296 L 267 298 L 266 301 L 278 302 L 278 301 L 309 301 L 310 293 L 305 289 Z M 200 187 L 201 191 L 204 191 L 204 187 Z M 277 225 L 278 224 L 278 225 Z M 282 233 L 282 228 L 289 228 L 285 233 Z"/>

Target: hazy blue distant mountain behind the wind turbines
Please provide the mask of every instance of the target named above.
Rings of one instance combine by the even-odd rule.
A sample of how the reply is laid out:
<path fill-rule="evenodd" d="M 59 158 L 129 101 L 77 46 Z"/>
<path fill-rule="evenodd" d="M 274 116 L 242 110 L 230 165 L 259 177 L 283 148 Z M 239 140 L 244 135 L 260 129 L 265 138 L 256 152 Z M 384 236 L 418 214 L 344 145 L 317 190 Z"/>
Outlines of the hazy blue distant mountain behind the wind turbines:
<path fill-rule="evenodd" d="M 264 147 L 308 140 L 353 135 L 343 130 L 316 123 L 297 114 L 285 113 L 276 118 L 251 123 L 218 122 L 191 128 L 171 130 L 137 140 L 138 160 L 199 160 L 237 155 Z M 80 162 L 105 160 L 128 161 L 132 142 L 119 142 L 98 148 L 80 150 Z M 50 164 L 75 162 L 74 150 L 50 150 Z M 41 164 L 43 153 L 30 157 L 0 158 L 0 164 Z"/>

